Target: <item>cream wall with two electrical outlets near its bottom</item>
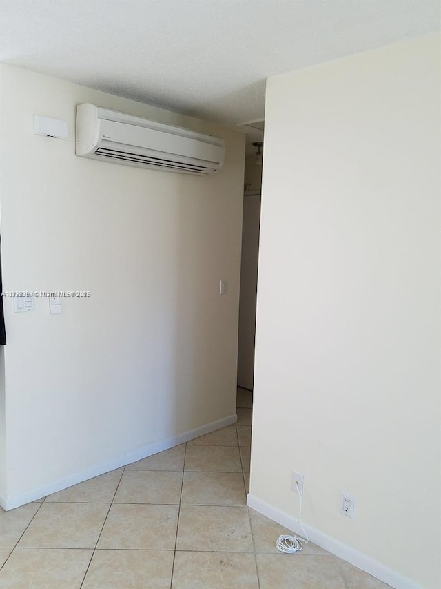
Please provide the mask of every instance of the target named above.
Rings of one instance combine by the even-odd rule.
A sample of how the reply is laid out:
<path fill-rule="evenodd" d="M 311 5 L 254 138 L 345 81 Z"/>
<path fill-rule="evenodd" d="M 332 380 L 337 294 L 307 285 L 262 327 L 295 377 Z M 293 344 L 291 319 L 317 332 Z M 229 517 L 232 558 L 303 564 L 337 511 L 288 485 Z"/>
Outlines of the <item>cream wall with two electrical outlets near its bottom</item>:
<path fill-rule="evenodd" d="M 304 473 L 400 588 L 441 586 L 440 88 L 436 35 L 267 84 L 250 503 L 294 521 Z"/>

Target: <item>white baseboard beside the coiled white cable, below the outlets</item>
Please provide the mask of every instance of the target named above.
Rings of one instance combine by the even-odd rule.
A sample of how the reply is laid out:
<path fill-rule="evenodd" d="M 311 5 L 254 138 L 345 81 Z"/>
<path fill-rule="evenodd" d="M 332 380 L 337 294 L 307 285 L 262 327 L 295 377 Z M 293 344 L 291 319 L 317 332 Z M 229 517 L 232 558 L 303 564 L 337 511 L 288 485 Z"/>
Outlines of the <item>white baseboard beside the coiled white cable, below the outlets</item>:
<path fill-rule="evenodd" d="M 273 505 L 269 505 L 269 503 L 259 499 L 251 493 L 247 496 L 247 505 L 259 513 L 269 517 L 269 519 L 280 523 L 280 525 L 288 528 L 288 530 L 292 530 L 296 534 L 302 535 L 302 530 L 297 519 L 290 516 L 286 512 L 275 508 Z M 396 589 L 420 589 L 419 585 L 410 579 L 405 579 L 398 572 L 388 568 L 379 561 L 371 559 L 371 557 L 368 557 L 366 554 L 358 552 L 358 550 L 351 548 L 351 546 L 343 544 L 335 538 L 320 532 L 320 530 L 312 528 L 306 523 L 303 523 L 303 525 L 311 542 L 314 542 L 314 544 L 317 544 L 320 546 L 320 548 L 324 548 L 328 552 L 335 554 L 340 559 L 343 559 L 360 568 L 361 570 L 368 572 L 369 574 L 373 575 L 373 577 L 380 579 L 380 581 L 383 581 L 384 583 L 387 583 Z"/>

